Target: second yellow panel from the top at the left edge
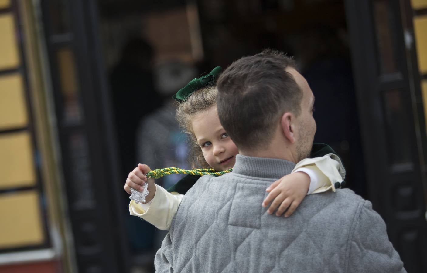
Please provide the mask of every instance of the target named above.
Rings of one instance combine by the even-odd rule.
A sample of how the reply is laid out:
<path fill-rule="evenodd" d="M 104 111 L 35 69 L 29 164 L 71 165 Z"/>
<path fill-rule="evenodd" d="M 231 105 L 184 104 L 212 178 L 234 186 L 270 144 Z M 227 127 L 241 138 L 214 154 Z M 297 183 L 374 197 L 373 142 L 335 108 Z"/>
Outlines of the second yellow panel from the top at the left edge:
<path fill-rule="evenodd" d="M 13 15 L 0 15 L 0 70 L 16 68 L 18 65 L 18 44 L 15 39 Z"/>

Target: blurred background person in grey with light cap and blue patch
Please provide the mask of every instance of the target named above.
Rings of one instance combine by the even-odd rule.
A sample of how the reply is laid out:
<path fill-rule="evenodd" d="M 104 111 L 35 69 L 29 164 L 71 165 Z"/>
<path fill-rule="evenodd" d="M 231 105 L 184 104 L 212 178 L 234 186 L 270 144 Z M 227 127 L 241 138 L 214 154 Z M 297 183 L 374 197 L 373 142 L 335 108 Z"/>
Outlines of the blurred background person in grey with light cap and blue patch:
<path fill-rule="evenodd" d="M 172 60 L 155 69 L 156 86 L 165 97 L 163 105 L 140 120 L 137 128 L 136 151 L 139 163 L 154 168 L 175 166 L 189 168 L 187 137 L 175 120 L 176 102 L 173 94 L 198 76 L 195 67 Z M 169 175 L 156 180 L 164 188 L 173 186 L 181 175 Z"/>

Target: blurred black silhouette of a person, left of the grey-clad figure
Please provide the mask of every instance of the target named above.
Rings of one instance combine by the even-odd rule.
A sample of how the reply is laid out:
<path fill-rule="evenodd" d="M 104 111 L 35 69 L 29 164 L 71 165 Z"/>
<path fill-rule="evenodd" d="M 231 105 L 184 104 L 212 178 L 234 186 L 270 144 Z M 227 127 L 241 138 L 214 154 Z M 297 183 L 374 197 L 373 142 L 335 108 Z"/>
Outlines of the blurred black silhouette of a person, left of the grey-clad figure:
<path fill-rule="evenodd" d="M 121 176 L 137 165 L 136 129 L 142 119 L 162 104 L 153 78 L 155 52 L 142 38 L 131 38 L 123 46 L 120 61 L 110 76 L 111 99 L 119 144 Z"/>

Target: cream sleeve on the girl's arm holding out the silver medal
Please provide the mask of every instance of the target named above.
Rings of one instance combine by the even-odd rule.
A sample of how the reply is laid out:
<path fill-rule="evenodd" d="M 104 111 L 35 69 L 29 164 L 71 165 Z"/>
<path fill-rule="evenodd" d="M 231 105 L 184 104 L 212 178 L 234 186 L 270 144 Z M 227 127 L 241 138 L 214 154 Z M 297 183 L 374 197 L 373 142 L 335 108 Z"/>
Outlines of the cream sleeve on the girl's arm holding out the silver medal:
<path fill-rule="evenodd" d="M 156 185 L 156 193 L 150 202 L 142 204 L 131 200 L 129 213 L 143 218 L 158 229 L 169 230 L 182 197 L 184 195 L 178 192 L 167 192 L 163 187 Z"/>

